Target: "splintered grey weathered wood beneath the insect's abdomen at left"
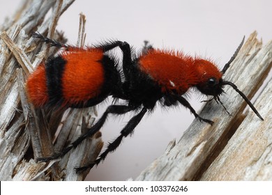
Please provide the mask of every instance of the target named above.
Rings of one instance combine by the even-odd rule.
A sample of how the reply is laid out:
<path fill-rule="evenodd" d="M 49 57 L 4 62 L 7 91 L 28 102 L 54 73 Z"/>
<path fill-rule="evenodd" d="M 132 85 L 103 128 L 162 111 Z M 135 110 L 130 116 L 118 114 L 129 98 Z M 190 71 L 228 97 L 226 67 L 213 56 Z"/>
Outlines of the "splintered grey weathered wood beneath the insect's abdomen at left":
<path fill-rule="evenodd" d="M 0 26 L 0 180 L 84 180 L 89 171 L 76 174 L 75 166 L 93 162 L 103 147 L 98 132 L 62 159 L 36 162 L 68 146 L 94 120 L 93 108 L 33 109 L 24 89 L 29 72 L 47 56 L 47 46 L 41 47 L 31 33 L 65 39 L 54 32 L 59 16 L 73 1 L 22 1 L 17 13 Z M 81 21 L 79 34 L 84 35 L 84 16 Z M 82 44 L 84 37 L 80 36 Z"/>

